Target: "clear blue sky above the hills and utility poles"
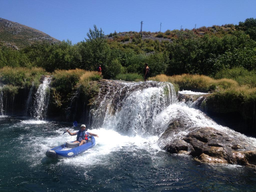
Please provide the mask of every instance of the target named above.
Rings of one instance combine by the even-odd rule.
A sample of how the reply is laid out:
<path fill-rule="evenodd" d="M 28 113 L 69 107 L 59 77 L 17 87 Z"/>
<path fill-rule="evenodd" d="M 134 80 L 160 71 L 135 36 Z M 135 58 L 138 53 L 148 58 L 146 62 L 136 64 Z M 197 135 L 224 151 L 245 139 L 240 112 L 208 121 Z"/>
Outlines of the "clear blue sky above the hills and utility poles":
<path fill-rule="evenodd" d="M 256 18 L 255 0 L 0 0 L 0 17 L 59 40 L 84 40 L 95 24 L 104 34 L 238 24 Z"/>

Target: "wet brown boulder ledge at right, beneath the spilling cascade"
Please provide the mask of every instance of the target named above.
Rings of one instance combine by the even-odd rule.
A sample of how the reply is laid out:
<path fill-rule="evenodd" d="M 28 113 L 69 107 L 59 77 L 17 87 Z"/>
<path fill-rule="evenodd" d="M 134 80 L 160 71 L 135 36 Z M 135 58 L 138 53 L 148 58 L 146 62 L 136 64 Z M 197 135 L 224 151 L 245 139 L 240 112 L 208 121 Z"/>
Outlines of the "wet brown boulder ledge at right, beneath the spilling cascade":
<path fill-rule="evenodd" d="M 169 122 L 159 138 L 169 153 L 187 154 L 204 163 L 228 163 L 256 167 L 256 140 L 231 129 L 193 126 L 189 118 Z"/>

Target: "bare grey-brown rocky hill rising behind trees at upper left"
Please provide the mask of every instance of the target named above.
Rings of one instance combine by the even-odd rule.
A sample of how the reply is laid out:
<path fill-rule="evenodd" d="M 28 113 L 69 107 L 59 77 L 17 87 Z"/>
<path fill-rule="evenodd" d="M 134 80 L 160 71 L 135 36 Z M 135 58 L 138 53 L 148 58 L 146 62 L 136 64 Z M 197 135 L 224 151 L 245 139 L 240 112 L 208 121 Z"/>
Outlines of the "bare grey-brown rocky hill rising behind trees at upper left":
<path fill-rule="evenodd" d="M 52 43 L 59 41 L 37 29 L 0 18 L 0 41 L 5 45 L 19 49 L 41 40 Z"/>

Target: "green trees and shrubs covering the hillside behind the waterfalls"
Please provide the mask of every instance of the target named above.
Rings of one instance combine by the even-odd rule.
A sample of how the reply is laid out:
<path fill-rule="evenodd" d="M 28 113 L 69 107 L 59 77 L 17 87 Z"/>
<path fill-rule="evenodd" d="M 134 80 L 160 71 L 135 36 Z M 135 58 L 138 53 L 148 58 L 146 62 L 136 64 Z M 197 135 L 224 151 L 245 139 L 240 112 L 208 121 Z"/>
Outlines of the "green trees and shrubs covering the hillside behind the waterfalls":
<path fill-rule="evenodd" d="M 10 28 L 16 26 L 7 24 Z M 186 73 L 220 78 L 219 71 L 242 68 L 250 72 L 247 77 L 250 76 L 251 80 L 247 85 L 251 83 L 249 86 L 254 87 L 254 72 L 251 71 L 256 68 L 255 32 L 254 18 L 235 26 L 214 25 L 193 30 L 166 30 L 164 33 L 144 31 L 143 34 L 129 31 L 105 35 L 94 25 L 87 38 L 74 45 L 69 40 L 55 44 L 44 40 L 13 50 L 0 43 L 0 68 L 40 67 L 47 72 L 79 68 L 94 71 L 101 65 L 103 78 L 130 81 L 141 79 L 145 63 L 151 69 L 151 77 Z M 19 32 L 15 38 L 18 35 Z M 241 84 L 237 78 L 234 80 Z"/>

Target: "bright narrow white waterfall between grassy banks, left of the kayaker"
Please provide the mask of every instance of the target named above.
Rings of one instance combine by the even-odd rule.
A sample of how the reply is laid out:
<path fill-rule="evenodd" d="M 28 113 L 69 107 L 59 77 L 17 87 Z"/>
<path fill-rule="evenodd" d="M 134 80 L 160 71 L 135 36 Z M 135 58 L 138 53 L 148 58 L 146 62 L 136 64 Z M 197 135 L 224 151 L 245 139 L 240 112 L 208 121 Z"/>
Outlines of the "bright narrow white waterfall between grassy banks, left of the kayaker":
<path fill-rule="evenodd" d="M 45 77 L 44 81 L 40 84 L 35 94 L 35 101 L 33 105 L 33 116 L 35 119 L 44 120 L 47 115 L 48 103 L 49 103 L 49 85 L 51 77 Z"/>

